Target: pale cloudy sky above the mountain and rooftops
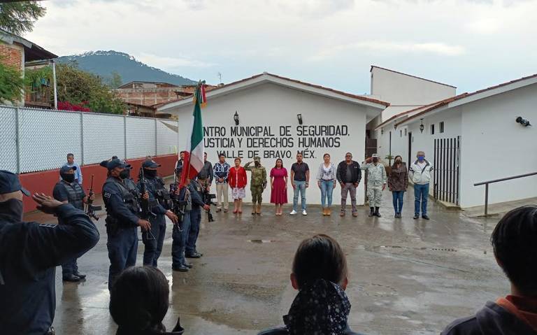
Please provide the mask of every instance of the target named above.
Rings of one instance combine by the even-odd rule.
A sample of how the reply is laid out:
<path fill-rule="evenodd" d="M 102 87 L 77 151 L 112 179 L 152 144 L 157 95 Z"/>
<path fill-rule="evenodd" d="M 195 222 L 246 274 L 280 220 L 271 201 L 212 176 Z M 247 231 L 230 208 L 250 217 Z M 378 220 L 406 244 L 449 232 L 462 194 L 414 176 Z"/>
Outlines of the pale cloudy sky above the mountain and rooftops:
<path fill-rule="evenodd" d="M 358 94 L 372 64 L 469 92 L 537 73 L 537 0 L 50 0 L 27 38 L 217 83 L 263 71 Z"/>

